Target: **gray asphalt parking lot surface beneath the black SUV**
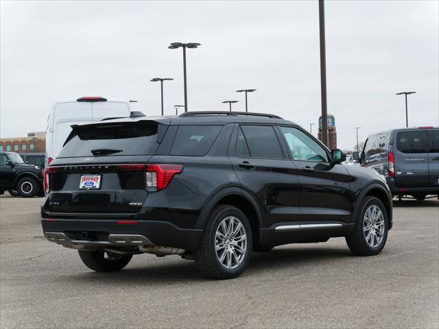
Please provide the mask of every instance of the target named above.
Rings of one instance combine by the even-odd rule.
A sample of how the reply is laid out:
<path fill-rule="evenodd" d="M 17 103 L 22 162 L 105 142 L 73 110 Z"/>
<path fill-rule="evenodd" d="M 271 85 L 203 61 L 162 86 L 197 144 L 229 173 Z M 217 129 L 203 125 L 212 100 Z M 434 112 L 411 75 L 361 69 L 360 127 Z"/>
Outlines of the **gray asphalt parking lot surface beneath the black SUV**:
<path fill-rule="evenodd" d="M 439 202 L 394 203 L 383 252 L 344 239 L 252 255 L 215 281 L 178 256 L 95 273 L 45 240 L 42 198 L 0 197 L 0 328 L 438 328 Z"/>

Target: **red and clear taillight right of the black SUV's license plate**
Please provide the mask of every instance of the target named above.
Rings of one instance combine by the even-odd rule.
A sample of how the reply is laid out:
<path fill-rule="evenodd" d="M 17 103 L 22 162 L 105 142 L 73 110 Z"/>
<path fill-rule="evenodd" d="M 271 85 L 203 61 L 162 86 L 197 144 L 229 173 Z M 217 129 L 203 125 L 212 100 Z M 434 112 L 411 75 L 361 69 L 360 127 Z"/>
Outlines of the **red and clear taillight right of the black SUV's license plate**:
<path fill-rule="evenodd" d="M 169 185 L 174 175 L 181 173 L 181 164 L 147 164 L 145 184 L 147 191 L 161 191 Z"/>

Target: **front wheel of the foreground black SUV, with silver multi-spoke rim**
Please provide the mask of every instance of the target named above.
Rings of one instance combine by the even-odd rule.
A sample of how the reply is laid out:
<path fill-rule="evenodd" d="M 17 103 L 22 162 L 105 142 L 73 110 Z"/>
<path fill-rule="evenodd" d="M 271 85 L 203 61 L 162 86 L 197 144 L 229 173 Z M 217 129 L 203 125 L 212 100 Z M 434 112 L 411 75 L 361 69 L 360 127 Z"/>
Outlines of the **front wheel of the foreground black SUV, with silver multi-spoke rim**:
<path fill-rule="evenodd" d="M 379 215 L 380 213 L 377 209 L 381 211 L 382 217 L 381 215 Z M 369 210 L 370 212 L 368 212 Z M 372 212 L 374 210 L 377 211 L 375 212 L 375 216 Z M 366 230 L 365 232 L 365 222 L 366 226 L 368 226 L 366 212 L 368 212 L 367 217 L 371 217 L 372 222 L 375 221 L 375 217 L 379 217 L 377 219 L 377 223 L 381 222 L 382 225 L 374 225 L 372 226 L 372 228 L 370 228 L 370 230 Z M 373 234 L 372 236 L 368 235 L 368 232 L 371 231 L 376 232 L 375 236 L 373 236 Z M 381 234 L 381 241 L 379 241 L 379 234 Z M 354 232 L 351 235 L 346 236 L 346 243 L 348 244 L 349 249 L 351 249 L 351 252 L 353 252 L 353 254 L 358 256 L 374 256 L 376 254 L 379 254 L 379 252 L 381 252 L 381 250 L 383 249 L 385 241 L 387 240 L 387 235 L 388 218 L 383 203 L 377 197 L 365 197 L 357 214 L 357 218 L 355 219 Z M 367 236 L 370 236 L 368 241 L 366 241 Z"/>

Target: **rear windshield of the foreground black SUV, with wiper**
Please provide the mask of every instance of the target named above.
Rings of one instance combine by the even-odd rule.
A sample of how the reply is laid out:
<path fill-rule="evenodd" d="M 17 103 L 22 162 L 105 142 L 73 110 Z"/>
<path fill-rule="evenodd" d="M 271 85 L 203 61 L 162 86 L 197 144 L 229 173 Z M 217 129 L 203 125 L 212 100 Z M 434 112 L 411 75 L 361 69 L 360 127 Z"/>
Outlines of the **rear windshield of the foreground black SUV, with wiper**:
<path fill-rule="evenodd" d="M 76 126 L 57 158 L 154 154 L 165 129 L 155 121 Z"/>

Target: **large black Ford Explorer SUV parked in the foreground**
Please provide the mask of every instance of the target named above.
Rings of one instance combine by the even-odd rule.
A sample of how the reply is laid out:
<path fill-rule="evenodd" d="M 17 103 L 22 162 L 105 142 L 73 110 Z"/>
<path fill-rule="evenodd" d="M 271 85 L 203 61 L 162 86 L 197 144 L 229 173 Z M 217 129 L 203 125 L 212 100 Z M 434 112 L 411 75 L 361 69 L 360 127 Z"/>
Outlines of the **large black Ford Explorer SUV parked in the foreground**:
<path fill-rule="evenodd" d="M 122 269 L 133 254 L 178 254 L 206 276 L 235 278 L 252 250 L 333 236 L 375 255 L 392 228 L 392 195 L 376 171 L 345 158 L 270 114 L 74 125 L 45 169 L 43 231 L 95 271 Z"/>

